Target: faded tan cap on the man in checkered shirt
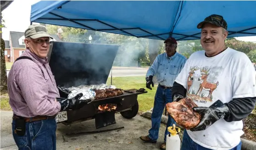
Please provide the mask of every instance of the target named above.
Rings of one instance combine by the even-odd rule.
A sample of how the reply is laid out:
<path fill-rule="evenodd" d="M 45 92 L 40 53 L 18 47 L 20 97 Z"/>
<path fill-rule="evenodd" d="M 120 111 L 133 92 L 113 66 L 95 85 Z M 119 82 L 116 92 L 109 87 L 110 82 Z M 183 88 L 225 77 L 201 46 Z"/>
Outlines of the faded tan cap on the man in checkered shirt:
<path fill-rule="evenodd" d="M 33 39 L 39 37 L 50 37 L 53 39 L 53 37 L 47 33 L 45 26 L 35 24 L 28 26 L 28 29 L 25 31 L 25 38 L 27 37 L 31 37 Z"/>

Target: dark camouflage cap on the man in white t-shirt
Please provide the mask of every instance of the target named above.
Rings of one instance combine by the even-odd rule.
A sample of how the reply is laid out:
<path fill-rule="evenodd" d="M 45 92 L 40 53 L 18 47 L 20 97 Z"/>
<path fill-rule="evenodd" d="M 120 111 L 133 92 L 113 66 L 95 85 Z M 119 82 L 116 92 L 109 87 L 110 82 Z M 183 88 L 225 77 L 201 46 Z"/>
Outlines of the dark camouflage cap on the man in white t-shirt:
<path fill-rule="evenodd" d="M 204 21 L 200 22 L 197 25 L 197 28 L 198 29 L 202 28 L 205 23 L 211 23 L 213 25 L 216 25 L 216 26 L 219 26 L 219 27 L 223 27 L 226 30 L 228 28 L 227 22 L 223 19 L 223 16 L 220 16 L 220 15 L 213 14 L 211 16 L 206 17 Z"/>

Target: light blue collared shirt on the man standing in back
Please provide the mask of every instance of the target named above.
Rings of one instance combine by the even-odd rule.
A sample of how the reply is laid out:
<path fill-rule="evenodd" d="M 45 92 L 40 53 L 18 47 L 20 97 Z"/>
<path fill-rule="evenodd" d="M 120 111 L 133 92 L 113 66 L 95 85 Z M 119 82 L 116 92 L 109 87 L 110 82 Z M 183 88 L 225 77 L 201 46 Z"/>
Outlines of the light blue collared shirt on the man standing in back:
<path fill-rule="evenodd" d="M 179 72 L 183 69 L 187 58 L 176 52 L 172 57 L 166 53 L 158 55 L 146 73 L 148 76 L 156 76 L 157 82 L 166 87 L 173 87 L 173 83 Z"/>

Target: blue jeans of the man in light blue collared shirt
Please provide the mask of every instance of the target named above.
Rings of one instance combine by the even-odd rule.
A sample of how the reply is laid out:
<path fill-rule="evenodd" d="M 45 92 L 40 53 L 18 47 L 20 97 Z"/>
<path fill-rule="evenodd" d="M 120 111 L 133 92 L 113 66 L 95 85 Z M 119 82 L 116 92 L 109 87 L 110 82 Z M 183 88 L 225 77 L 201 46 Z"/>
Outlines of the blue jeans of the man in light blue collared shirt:
<path fill-rule="evenodd" d="M 159 128 L 161 124 L 161 116 L 163 114 L 164 107 L 167 103 L 171 103 L 171 102 L 173 102 L 172 90 L 169 88 L 167 89 L 161 88 L 158 85 L 156 89 L 154 108 L 151 115 L 152 128 L 149 130 L 149 137 L 151 140 L 156 141 L 158 139 L 158 133 L 159 133 Z M 166 141 L 166 136 L 169 134 L 167 127 L 173 126 L 173 124 L 176 124 L 176 122 L 170 115 L 168 115 L 164 141 Z"/>

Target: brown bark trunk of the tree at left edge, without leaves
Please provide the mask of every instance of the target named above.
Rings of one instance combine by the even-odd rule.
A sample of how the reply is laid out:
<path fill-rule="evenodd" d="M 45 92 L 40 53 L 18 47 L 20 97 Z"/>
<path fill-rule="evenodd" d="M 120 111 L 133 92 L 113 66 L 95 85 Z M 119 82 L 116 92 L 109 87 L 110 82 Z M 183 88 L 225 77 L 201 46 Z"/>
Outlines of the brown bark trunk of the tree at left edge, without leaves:
<path fill-rule="evenodd" d="M 0 16 L 0 23 L 2 21 L 2 16 Z M 5 41 L 2 39 L 2 28 L 0 29 L 0 91 L 1 94 L 7 93 L 7 73 L 6 73 L 6 59 L 5 59 Z"/>

